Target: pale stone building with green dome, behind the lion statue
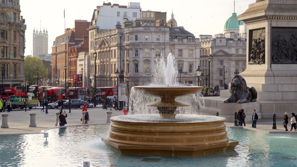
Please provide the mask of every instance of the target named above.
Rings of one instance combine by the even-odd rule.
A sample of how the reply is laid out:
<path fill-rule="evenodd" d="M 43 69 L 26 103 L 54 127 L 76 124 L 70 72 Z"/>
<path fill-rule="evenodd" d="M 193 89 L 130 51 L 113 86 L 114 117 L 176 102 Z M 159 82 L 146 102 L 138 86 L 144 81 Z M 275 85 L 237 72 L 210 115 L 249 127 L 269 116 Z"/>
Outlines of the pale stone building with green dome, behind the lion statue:
<path fill-rule="evenodd" d="M 209 86 L 210 79 L 210 86 L 218 85 L 219 89 L 225 89 L 223 86 L 225 81 L 227 89 L 234 75 L 243 72 L 246 68 L 246 26 L 242 21 L 238 21 L 236 13 L 232 13 L 225 23 L 224 34 L 200 35 L 200 43 L 200 68 L 203 73 L 200 77 L 200 86 Z M 209 56 L 211 58 L 210 78 L 208 76 Z"/>

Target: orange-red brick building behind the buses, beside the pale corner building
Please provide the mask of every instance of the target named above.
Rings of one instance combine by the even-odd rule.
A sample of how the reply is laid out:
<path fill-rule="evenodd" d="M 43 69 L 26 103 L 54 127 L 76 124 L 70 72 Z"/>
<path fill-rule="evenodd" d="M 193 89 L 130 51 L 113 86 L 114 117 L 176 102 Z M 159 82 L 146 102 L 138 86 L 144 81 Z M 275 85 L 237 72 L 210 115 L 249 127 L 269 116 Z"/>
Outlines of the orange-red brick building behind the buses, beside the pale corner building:
<path fill-rule="evenodd" d="M 52 78 L 56 81 L 54 86 L 64 87 L 65 78 L 66 82 L 72 82 L 73 74 L 77 74 L 78 53 L 89 48 L 88 42 L 86 42 L 88 37 L 84 37 L 84 35 L 88 35 L 89 25 L 90 22 L 86 20 L 75 20 L 75 27 L 65 29 L 65 34 L 56 37 L 53 42 L 51 55 Z M 66 76 L 65 71 L 67 71 Z"/>

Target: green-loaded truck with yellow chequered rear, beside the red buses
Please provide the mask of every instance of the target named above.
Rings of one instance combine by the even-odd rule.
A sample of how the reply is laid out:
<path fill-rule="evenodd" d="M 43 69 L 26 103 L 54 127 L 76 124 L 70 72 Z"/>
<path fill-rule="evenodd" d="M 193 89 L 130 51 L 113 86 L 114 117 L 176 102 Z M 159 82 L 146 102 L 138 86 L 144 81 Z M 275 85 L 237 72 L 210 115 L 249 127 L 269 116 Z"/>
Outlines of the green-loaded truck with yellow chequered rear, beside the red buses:
<path fill-rule="evenodd" d="M 28 96 L 10 96 L 12 109 L 20 108 L 23 109 L 25 106 L 29 109 L 37 106 L 37 98 L 28 98 Z M 26 103 L 25 103 L 26 101 Z"/>

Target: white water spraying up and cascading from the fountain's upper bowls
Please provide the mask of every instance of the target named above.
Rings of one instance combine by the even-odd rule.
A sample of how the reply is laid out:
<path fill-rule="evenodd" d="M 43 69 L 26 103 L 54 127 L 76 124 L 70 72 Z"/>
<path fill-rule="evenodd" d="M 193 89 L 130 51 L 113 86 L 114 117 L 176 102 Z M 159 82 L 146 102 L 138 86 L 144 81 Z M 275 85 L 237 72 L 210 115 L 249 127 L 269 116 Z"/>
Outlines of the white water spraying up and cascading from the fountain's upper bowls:
<path fill-rule="evenodd" d="M 163 55 L 155 60 L 155 68 L 153 71 L 153 79 L 149 86 L 178 86 L 178 70 L 174 55 L 169 53 L 167 63 Z M 166 65 L 167 64 L 167 65 Z M 204 106 L 204 100 L 199 93 L 176 97 L 176 101 L 190 104 L 188 107 L 178 107 L 177 114 L 199 114 L 199 107 Z M 136 91 L 133 87 L 130 91 L 129 98 L 129 114 L 156 114 L 159 113 L 156 107 L 146 106 L 148 103 L 160 101 L 159 97 L 147 96 L 143 91 Z M 179 113 L 178 113 L 179 112 Z"/>

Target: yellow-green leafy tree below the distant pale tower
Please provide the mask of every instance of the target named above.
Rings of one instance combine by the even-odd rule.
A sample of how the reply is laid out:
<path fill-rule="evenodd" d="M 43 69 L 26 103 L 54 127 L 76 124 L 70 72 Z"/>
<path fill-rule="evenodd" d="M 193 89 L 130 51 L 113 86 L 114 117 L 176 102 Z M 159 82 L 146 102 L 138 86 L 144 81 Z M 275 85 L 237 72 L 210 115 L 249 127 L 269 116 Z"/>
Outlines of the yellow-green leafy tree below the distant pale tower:
<path fill-rule="evenodd" d="M 38 85 L 40 85 L 40 79 L 48 78 L 48 70 L 45 69 L 45 66 L 40 58 L 26 56 L 24 59 L 24 66 L 25 80 L 28 85 L 37 84 L 37 70 L 39 70 Z"/>

